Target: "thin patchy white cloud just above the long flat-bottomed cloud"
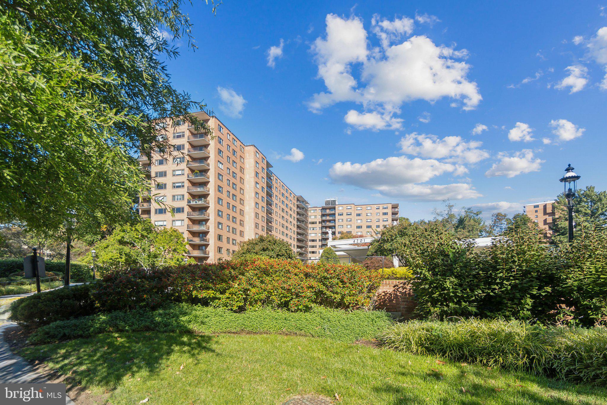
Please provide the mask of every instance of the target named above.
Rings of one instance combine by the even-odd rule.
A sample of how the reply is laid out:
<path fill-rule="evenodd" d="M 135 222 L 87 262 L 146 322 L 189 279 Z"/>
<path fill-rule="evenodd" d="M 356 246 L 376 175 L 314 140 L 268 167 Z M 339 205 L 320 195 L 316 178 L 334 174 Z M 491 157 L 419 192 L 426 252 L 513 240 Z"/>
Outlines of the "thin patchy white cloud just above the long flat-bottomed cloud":
<path fill-rule="evenodd" d="M 401 152 L 408 155 L 446 159 L 450 163 L 477 163 L 489 157 L 489 153 L 479 149 L 483 142 L 464 141 L 461 137 L 444 137 L 436 135 L 407 134 L 398 145 Z"/>

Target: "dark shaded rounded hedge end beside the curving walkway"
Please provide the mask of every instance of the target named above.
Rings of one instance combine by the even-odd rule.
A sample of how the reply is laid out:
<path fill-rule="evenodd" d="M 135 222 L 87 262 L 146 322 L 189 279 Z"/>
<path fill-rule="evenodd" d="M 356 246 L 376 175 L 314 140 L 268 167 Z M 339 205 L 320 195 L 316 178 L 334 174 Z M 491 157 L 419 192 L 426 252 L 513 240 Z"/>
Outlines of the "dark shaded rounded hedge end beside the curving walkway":
<path fill-rule="evenodd" d="M 38 327 L 90 315 L 95 312 L 92 288 L 90 284 L 74 285 L 18 299 L 10 306 L 10 318 L 27 327 Z"/>

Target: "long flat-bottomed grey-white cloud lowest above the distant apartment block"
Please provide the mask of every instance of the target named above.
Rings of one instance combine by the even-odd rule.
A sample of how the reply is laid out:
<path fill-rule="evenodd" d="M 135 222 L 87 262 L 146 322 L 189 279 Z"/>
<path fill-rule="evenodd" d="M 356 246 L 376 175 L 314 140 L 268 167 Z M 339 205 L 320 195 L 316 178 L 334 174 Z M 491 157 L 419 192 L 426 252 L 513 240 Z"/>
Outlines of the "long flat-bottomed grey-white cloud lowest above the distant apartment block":
<path fill-rule="evenodd" d="M 466 183 L 426 185 L 434 177 L 455 173 L 461 166 L 442 163 L 435 159 L 407 158 L 405 156 L 376 159 L 369 163 L 338 162 L 331 167 L 329 177 L 334 183 L 348 184 L 376 190 L 388 197 L 409 200 L 435 201 L 480 197 Z"/>

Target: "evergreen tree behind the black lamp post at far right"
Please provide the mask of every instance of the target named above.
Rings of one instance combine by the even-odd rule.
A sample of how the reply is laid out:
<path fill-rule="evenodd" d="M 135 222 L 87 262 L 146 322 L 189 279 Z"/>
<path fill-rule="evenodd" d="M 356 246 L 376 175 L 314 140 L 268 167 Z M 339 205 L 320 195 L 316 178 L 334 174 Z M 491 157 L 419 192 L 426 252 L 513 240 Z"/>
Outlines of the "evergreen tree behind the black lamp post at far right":
<path fill-rule="evenodd" d="M 567 200 L 559 194 L 554 203 L 555 218 L 552 225 L 552 242 L 567 242 L 569 234 Z M 607 191 L 596 191 L 594 186 L 586 186 L 576 193 L 573 217 L 575 227 L 584 225 L 607 225 Z"/>

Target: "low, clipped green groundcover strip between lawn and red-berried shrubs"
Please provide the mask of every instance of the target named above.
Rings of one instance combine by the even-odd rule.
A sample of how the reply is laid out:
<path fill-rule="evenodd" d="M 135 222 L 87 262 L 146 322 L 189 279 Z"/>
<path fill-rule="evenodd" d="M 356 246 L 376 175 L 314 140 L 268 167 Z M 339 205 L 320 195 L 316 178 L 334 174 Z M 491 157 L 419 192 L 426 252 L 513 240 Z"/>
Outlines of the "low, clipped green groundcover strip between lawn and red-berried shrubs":
<path fill-rule="evenodd" d="M 168 304 L 157 310 L 98 313 L 54 322 L 39 328 L 30 342 L 44 343 L 83 338 L 106 332 L 156 330 L 159 332 L 277 332 L 330 338 L 342 342 L 371 339 L 390 324 L 384 311 L 341 311 L 314 307 L 306 313 L 248 310 L 234 313 L 224 308 Z"/>

